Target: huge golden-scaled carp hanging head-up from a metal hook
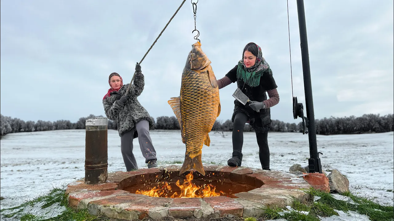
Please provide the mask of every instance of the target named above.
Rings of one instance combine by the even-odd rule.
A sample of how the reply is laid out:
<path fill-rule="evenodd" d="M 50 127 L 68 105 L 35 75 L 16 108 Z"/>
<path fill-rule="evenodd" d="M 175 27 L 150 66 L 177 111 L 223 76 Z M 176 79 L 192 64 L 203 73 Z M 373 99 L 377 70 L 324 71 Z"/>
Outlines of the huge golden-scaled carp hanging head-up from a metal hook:
<path fill-rule="evenodd" d="M 210 64 L 201 43 L 193 44 L 182 72 L 180 96 L 168 101 L 178 119 L 182 142 L 186 144 L 179 174 L 192 168 L 205 175 L 202 149 L 204 144 L 209 147 L 208 133 L 220 114 L 219 87 Z"/>

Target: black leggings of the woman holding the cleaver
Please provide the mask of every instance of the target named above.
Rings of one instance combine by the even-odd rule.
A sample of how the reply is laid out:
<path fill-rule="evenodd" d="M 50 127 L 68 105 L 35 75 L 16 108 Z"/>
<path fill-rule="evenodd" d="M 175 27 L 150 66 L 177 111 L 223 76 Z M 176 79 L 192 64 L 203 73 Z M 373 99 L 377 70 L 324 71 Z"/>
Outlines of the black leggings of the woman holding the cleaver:
<path fill-rule="evenodd" d="M 243 127 L 247 122 L 248 117 L 246 114 L 238 113 L 234 117 L 234 125 L 232 129 L 232 150 L 238 150 L 242 152 L 243 145 Z M 268 132 L 256 133 L 257 144 L 258 144 L 258 155 L 260 157 L 260 163 L 262 169 L 269 169 L 269 147 L 267 140 Z"/>

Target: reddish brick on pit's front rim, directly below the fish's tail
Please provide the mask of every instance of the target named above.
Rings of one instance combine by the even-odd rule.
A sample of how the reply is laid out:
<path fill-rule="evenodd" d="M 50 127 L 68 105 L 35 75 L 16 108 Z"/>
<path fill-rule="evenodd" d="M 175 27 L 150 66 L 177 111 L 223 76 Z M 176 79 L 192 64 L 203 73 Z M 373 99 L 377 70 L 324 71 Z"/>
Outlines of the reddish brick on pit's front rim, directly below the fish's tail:
<path fill-rule="evenodd" d="M 201 198 L 174 198 L 168 214 L 175 219 L 181 217 L 192 217 L 194 210 L 201 209 Z"/>

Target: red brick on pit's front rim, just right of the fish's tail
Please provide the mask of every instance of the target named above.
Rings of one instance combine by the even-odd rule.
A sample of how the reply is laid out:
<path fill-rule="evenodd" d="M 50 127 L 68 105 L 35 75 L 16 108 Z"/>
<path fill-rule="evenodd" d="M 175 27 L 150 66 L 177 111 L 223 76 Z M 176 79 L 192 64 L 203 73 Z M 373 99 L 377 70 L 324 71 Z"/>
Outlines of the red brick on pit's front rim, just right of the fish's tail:
<path fill-rule="evenodd" d="M 243 206 L 232 198 L 225 196 L 204 197 L 203 200 L 208 203 L 214 210 L 218 211 L 221 216 L 232 214 L 242 217 Z"/>

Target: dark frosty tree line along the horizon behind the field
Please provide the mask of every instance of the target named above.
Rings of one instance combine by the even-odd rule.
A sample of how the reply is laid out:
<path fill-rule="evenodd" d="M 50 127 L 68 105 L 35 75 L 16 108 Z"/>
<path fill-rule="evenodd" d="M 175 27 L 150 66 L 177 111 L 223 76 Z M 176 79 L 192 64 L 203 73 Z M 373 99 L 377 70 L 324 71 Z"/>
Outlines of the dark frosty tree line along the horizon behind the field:
<path fill-rule="evenodd" d="M 33 131 L 54 131 L 67 129 L 85 129 L 86 118 L 103 117 L 90 114 L 87 117 L 80 118 L 76 123 L 69 120 L 57 120 L 37 122 L 24 122 L 19 118 L 11 118 L 0 114 L 1 135 L 19 132 L 33 132 Z M 152 117 L 154 129 L 159 130 L 179 130 L 179 123 L 175 116 L 160 116 L 156 120 Z M 302 123 L 285 123 L 280 120 L 272 120 L 274 132 L 302 132 Z M 117 130 L 117 122 L 108 120 L 108 129 Z M 355 133 L 384 133 L 390 132 L 394 129 L 394 115 L 387 114 L 380 116 L 379 114 L 364 114 L 360 117 L 350 116 L 342 118 L 323 118 L 316 120 L 316 134 L 331 135 L 331 134 L 355 134 Z M 231 120 L 222 122 L 217 120 L 212 127 L 212 131 L 232 131 Z M 244 131 L 254 131 L 251 125 L 246 124 Z"/>

